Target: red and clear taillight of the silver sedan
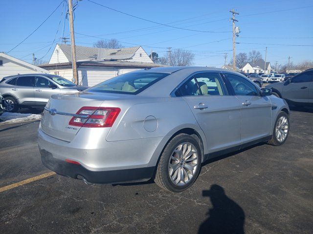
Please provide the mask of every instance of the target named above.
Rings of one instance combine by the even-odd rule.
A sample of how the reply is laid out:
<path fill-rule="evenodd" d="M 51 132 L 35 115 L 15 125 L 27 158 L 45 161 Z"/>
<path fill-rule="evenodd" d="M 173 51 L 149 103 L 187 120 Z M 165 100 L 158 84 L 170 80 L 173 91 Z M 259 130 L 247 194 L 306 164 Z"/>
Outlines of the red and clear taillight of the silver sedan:
<path fill-rule="evenodd" d="M 84 106 L 76 113 L 82 117 L 72 117 L 68 124 L 87 128 L 112 127 L 120 111 L 121 109 L 116 107 Z"/>

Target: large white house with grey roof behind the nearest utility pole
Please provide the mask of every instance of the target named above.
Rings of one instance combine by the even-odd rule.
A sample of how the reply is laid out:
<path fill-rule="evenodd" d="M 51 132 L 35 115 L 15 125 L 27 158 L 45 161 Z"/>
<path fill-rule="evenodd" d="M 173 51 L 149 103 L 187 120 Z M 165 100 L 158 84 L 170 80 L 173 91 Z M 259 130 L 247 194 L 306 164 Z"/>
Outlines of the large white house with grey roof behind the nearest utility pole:
<path fill-rule="evenodd" d="M 76 46 L 79 83 L 93 86 L 106 79 L 143 68 L 163 66 L 154 63 L 141 46 L 104 49 Z M 48 64 L 40 67 L 50 74 L 72 80 L 72 57 L 70 45 L 57 44 Z"/>

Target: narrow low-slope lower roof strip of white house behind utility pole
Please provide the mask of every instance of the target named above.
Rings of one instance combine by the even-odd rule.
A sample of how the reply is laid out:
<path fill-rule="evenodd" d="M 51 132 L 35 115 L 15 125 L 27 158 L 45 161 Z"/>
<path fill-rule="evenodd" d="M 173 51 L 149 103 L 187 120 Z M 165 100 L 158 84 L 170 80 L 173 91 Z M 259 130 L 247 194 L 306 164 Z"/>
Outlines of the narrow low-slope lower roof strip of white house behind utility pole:
<path fill-rule="evenodd" d="M 43 68 L 50 68 L 50 67 L 64 67 L 64 66 L 72 66 L 71 62 L 63 62 L 63 63 L 52 63 L 52 64 L 43 64 L 40 65 L 40 67 Z M 114 66 L 114 67 L 139 67 L 139 68 L 145 68 L 145 67 L 164 67 L 164 65 L 157 64 L 157 63 L 144 63 L 144 62 L 131 62 L 131 61 L 78 61 L 77 66 Z"/>

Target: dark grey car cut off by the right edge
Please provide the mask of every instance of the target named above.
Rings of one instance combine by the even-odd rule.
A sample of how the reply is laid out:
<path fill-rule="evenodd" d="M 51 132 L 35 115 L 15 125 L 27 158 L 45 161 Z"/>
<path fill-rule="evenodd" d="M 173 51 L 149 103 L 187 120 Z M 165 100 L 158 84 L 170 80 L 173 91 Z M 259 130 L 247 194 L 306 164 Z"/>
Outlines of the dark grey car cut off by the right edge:
<path fill-rule="evenodd" d="M 290 104 L 313 105 L 313 69 L 308 69 L 285 82 L 274 83 L 267 86 L 272 94 L 286 99 Z"/>

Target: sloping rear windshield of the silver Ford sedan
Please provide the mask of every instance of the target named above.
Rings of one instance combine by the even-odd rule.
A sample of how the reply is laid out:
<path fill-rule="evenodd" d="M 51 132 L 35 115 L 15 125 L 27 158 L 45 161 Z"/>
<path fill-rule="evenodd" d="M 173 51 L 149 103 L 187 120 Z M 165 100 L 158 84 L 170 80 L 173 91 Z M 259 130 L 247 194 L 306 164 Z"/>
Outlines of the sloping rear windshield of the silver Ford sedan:
<path fill-rule="evenodd" d="M 116 94 L 138 94 L 168 75 L 170 74 L 132 72 L 106 80 L 88 89 L 88 91 Z"/>

